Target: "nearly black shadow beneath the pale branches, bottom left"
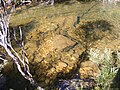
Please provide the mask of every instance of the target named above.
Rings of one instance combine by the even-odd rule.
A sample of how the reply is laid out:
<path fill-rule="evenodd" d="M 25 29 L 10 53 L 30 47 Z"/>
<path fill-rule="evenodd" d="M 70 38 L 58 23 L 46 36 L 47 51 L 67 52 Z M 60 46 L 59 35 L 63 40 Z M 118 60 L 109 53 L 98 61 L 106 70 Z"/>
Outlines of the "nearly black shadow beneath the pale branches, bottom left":
<path fill-rule="evenodd" d="M 8 73 L 8 72 L 7 72 Z M 6 74 L 7 88 L 12 90 L 35 90 L 30 82 L 26 80 L 18 71 L 11 71 Z"/>

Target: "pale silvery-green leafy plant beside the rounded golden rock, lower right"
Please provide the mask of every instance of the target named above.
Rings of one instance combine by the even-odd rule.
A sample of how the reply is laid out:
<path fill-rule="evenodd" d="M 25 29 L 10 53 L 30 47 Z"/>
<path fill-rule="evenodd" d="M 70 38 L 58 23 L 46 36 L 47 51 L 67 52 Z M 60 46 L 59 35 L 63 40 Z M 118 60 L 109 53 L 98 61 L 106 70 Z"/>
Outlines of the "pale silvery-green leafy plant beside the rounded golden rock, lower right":
<path fill-rule="evenodd" d="M 106 48 L 103 52 L 98 49 L 93 50 L 92 48 L 89 51 L 90 60 L 95 62 L 101 70 L 101 74 L 96 78 L 96 90 L 109 90 L 110 85 L 119 70 L 120 52 L 117 51 L 116 54 L 117 66 L 113 63 L 114 58 L 112 53 L 112 50 Z"/>

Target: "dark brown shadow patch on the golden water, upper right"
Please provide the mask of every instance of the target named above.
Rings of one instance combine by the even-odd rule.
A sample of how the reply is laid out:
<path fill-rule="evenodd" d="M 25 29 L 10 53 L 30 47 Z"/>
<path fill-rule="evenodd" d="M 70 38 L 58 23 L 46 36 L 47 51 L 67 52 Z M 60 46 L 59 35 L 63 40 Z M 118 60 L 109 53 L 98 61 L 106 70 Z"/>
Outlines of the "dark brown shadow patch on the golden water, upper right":
<path fill-rule="evenodd" d="M 102 40 L 102 38 L 107 37 L 107 35 L 109 36 L 113 27 L 114 26 L 106 20 L 87 21 L 85 23 L 83 22 L 83 24 L 75 30 L 75 34 L 79 36 L 82 45 L 88 49 L 91 45 L 93 46 L 96 41 Z"/>

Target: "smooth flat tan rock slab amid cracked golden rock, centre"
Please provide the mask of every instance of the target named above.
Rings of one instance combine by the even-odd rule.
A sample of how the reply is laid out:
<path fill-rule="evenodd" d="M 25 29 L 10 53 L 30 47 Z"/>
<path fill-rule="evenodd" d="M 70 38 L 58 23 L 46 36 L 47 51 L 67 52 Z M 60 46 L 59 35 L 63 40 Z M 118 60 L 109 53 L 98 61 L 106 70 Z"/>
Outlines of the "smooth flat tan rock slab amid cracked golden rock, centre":
<path fill-rule="evenodd" d="M 73 45 L 75 42 L 66 38 L 62 35 L 56 35 L 55 37 L 47 38 L 45 43 L 42 45 L 41 54 L 42 56 L 46 56 L 48 53 L 54 50 L 61 51 L 65 47 Z"/>

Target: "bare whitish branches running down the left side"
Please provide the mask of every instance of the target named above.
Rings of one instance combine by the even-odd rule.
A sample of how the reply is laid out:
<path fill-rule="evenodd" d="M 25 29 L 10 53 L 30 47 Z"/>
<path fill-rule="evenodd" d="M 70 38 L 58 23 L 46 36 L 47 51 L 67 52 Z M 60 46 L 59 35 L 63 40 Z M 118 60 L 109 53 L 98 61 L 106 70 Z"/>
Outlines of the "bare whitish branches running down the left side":
<path fill-rule="evenodd" d="M 37 82 L 34 81 L 34 79 L 32 78 L 32 75 L 30 74 L 30 70 L 29 70 L 29 62 L 26 56 L 26 52 L 24 50 L 24 42 L 23 42 L 23 35 L 22 35 L 22 30 L 19 27 L 19 33 L 20 33 L 20 42 L 18 42 L 17 38 L 16 38 L 16 32 L 14 31 L 14 39 L 15 41 L 17 41 L 20 45 L 20 48 L 22 49 L 22 56 L 19 55 L 17 53 L 17 51 L 15 51 L 15 49 L 12 47 L 11 44 L 11 37 L 10 37 L 10 31 L 9 31 L 9 20 L 10 20 L 10 16 L 12 14 L 12 12 L 15 10 L 15 5 L 12 6 L 10 13 L 7 12 L 7 8 L 6 8 L 6 2 L 5 0 L 1 0 L 2 1 L 2 7 L 4 9 L 3 13 L 0 13 L 0 45 L 5 49 L 5 51 L 7 52 L 7 54 L 12 58 L 12 61 L 16 64 L 18 71 L 21 73 L 21 75 L 30 81 L 30 83 L 32 85 L 34 85 L 38 90 L 44 90 L 42 89 Z M 11 0 L 9 0 L 8 5 L 10 5 Z M 8 61 L 2 57 L 0 57 L 1 60 L 3 61 Z M 24 68 L 24 70 L 22 70 L 22 68 Z"/>

